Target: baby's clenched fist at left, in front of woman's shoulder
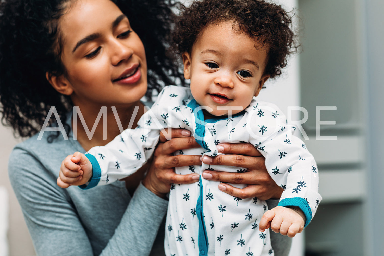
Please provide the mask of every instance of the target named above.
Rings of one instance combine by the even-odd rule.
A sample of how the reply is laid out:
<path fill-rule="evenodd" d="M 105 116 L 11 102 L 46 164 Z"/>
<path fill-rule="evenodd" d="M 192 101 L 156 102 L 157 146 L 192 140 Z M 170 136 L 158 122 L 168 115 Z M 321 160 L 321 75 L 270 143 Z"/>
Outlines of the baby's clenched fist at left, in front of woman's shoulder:
<path fill-rule="evenodd" d="M 61 162 L 57 185 L 61 188 L 68 188 L 71 185 L 79 186 L 87 183 L 91 177 L 91 162 L 83 153 L 75 152 Z"/>

